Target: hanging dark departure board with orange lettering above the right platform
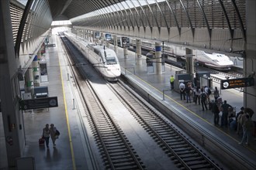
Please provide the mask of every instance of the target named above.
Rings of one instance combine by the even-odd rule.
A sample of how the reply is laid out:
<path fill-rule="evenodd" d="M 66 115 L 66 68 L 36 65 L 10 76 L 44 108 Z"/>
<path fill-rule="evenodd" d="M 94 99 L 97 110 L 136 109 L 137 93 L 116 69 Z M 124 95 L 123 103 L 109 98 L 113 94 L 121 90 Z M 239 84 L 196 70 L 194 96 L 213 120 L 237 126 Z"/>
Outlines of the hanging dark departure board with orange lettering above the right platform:
<path fill-rule="evenodd" d="M 239 87 L 251 87 L 254 86 L 254 78 L 241 78 L 241 79 L 227 79 L 220 80 L 221 89 L 231 89 Z"/>

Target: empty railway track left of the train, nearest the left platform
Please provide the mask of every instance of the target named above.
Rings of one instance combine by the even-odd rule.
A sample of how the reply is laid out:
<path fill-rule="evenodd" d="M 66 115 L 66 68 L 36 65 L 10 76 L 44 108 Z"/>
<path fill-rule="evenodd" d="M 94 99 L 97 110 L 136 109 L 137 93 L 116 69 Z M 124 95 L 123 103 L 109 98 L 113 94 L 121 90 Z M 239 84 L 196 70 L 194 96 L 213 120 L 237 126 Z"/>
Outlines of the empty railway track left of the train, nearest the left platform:
<path fill-rule="evenodd" d="M 68 42 L 65 43 L 68 44 Z M 77 53 L 77 49 L 72 46 L 69 46 L 69 48 L 71 53 Z M 71 60 L 69 60 L 69 63 L 74 65 Z M 105 168 L 145 169 L 133 146 L 130 145 L 121 128 L 113 121 L 113 118 L 95 94 L 91 83 L 85 80 L 85 74 L 81 67 L 73 67 L 72 70 L 81 90 L 81 97 L 85 101 L 83 103 L 85 114 L 92 128 Z"/>

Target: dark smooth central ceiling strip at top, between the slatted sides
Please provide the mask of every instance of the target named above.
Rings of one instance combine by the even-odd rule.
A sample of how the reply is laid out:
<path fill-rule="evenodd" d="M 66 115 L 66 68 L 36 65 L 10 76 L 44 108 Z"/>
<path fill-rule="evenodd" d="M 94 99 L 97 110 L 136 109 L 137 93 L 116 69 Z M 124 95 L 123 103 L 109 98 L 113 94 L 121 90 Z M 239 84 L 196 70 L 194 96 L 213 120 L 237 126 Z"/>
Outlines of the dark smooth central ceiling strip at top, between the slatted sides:
<path fill-rule="evenodd" d="M 54 21 L 72 19 L 124 0 L 49 0 Z"/>

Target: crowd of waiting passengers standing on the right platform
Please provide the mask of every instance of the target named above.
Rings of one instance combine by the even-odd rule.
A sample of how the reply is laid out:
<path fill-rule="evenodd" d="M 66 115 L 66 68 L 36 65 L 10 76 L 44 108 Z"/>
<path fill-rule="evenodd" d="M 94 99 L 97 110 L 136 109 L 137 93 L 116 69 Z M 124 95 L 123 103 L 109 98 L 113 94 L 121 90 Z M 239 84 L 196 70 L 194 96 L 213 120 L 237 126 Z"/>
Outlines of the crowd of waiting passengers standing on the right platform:
<path fill-rule="evenodd" d="M 236 114 L 234 108 L 230 104 L 227 104 L 227 100 L 222 100 L 217 87 L 212 92 L 206 86 L 192 88 L 191 82 L 181 82 L 179 83 L 179 90 L 181 100 L 183 99 L 187 103 L 191 103 L 191 99 L 193 99 L 195 104 L 202 105 L 202 110 L 212 110 L 215 125 L 219 125 L 220 121 L 221 127 L 234 129 L 237 131 L 237 134 L 242 133 L 243 137 L 239 142 L 240 145 L 244 143 L 248 145 L 251 134 L 253 134 L 254 140 L 256 140 L 256 114 L 254 114 L 253 110 L 241 107 L 240 112 Z M 212 94 L 214 100 L 210 102 L 210 96 Z"/>

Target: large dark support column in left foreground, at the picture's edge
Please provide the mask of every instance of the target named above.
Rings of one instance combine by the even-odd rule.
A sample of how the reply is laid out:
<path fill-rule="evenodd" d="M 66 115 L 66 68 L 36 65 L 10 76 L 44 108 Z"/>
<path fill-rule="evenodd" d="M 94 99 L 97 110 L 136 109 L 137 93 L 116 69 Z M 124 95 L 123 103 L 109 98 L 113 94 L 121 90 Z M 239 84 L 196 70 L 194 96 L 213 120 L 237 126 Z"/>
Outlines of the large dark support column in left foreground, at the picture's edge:
<path fill-rule="evenodd" d="M 22 113 L 19 110 L 19 87 L 17 87 L 19 80 L 16 63 L 19 63 L 19 59 L 13 48 L 9 3 L 9 0 L 0 1 L 0 99 L 3 121 L 0 128 L 5 132 L 5 138 L 0 145 L 1 153 L 7 155 L 8 167 L 15 169 L 16 158 L 21 157 L 25 139 Z"/>

